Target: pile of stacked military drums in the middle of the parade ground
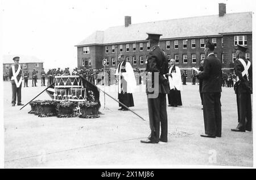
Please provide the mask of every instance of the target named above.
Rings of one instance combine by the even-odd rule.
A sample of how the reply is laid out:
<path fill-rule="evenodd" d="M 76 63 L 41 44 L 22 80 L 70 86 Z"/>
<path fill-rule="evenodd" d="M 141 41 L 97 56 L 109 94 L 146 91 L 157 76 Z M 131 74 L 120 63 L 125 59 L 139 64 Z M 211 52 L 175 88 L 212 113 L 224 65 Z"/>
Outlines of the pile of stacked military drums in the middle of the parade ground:
<path fill-rule="evenodd" d="M 86 82 L 85 82 L 86 83 Z M 57 116 L 58 118 L 98 118 L 100 101 L 94 98 L 93 90 L 85 88 L 80 76 L 55 76 L 51 101 L 30 102 L 28 113 L 39 117 Z M 96 100 L 97 99 L 97 100 Z"/>

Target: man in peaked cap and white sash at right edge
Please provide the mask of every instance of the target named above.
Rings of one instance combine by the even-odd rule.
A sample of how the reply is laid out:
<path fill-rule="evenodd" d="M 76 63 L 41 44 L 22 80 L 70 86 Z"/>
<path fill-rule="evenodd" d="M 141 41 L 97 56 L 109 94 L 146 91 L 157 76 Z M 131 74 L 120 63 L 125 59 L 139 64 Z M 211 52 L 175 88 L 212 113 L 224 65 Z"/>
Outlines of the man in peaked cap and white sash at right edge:
<path fill-rule="evenodd" d="M 235 132 L 251 131 L 251 94 L 252 94 L 252 67 L 251 62 L 246 60 L 245 53 L 247 48 L 237 45 L 237 60 L 234 62 L 234 70 L 237 75 L 235 93 L 237 94 L 237 128 L 231 129 Z"/>

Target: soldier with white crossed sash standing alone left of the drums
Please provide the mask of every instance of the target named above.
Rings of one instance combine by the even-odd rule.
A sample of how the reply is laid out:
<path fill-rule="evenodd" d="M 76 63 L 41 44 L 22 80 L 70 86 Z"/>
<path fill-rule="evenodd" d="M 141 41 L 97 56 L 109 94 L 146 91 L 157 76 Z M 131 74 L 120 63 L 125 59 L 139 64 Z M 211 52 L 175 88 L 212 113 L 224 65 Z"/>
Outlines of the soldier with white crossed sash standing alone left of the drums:
<path fill-rule="evenodd" d="M 19 64 L 19 57 L 14 57 L 14 65 L 11 65 L 9 69 L 9 78 L 11 79 L 11 106 L 15 106 L 16 98 L 18 100 L 17 105 L 23 106 L 21 102 L 21 89 L 22 89 L 22 67 Z"/>

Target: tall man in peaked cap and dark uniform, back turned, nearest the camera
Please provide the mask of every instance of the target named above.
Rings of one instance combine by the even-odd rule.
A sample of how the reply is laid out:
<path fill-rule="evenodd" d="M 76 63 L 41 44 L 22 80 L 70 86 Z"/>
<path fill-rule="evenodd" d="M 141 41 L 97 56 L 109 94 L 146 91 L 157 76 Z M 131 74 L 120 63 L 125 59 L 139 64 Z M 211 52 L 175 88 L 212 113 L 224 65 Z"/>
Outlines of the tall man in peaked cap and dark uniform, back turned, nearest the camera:
<path fill-rule="evenodd" d="M 159 143 L 159 141 L 167 143 L 166 94 L 168 94 L 168 91 L 164 87 L 169 89 L 169 85 L 164 74 L 168 73 L 168 61 L 164 52 L 158 46 L 161 35 L 147 34 L 151 49 L 146 60 L 146 93 L 151 134 L 147 140 L 141 140 L 141 143 Z M 161 135 L 159 132 L 160 125 Z"/>

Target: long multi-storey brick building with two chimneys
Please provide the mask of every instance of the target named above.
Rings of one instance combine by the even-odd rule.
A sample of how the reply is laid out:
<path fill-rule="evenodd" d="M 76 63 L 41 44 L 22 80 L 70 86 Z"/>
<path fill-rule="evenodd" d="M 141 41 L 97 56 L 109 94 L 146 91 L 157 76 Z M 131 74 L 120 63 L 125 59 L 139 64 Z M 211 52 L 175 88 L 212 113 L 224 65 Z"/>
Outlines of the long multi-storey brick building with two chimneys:
<path fill-rule="evenodd" d="M 192 67 L 198 68 L 205 58 L 204 42 L 209 39 L 216 44 L 216 56 L 222 61 L 224 72 L 233 73 L 236 59 L 236 44 L 249 49 L 246 58 L 252 60 L 252 12 L 226 14 L 226 5 L 219 4 L 219 14 L 193 18 L 162 20 L 131 24 L 131 17 L 125 16 L 125 26 L 110 27 L 96 31 L 77 44 L 77 66 L 79 68 L 101 69 L 102 60 L 108 60 L 108 68 L 117 67 L 117 56 L 123 53 L 133 68 L 145 68 L 149 44 L 146 32 L 159 32 L 159 46 L 174 58 L 176 65 L 188 77 Z"/>

